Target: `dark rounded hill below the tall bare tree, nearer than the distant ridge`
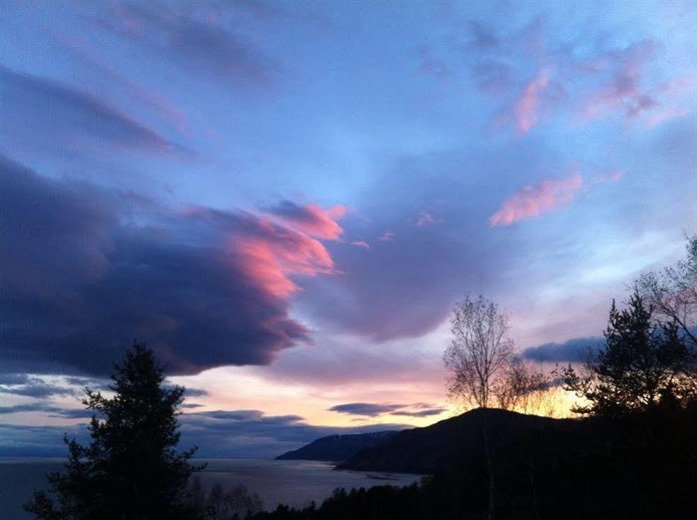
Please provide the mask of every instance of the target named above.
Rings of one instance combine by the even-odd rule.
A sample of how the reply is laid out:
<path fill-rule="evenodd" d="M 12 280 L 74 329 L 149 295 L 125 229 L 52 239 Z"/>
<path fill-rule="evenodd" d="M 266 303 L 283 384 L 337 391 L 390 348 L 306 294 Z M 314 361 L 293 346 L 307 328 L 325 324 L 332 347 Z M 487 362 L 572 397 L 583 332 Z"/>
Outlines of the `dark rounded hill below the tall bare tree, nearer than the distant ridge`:
<path fill-rule="evenodd" d="M 485 450 L 515 456 L 532 442 L 555 442 L 578 433 L 577 419 L 550 419 L 493 408 L 470 410 L 424 428 L 403 430 L 366 446 L 340 463 L 344 470 L 431 474 L 452 461 L 470 460 Z"/>

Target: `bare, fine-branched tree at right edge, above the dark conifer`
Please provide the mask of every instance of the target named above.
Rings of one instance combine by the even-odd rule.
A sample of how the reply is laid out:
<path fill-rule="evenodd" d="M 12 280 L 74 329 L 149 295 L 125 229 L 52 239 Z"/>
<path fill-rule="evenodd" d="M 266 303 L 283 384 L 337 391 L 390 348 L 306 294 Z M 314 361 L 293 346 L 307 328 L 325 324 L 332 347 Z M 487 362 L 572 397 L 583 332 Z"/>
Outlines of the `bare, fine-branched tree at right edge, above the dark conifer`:
<path fill-rule="evenodd" d="M 685 341 L 697 348 L 697 235 L 687 239 L 687 258 L 661 272 L 647 272 L 636 281 L 654 313 L 675 321 Z"/>

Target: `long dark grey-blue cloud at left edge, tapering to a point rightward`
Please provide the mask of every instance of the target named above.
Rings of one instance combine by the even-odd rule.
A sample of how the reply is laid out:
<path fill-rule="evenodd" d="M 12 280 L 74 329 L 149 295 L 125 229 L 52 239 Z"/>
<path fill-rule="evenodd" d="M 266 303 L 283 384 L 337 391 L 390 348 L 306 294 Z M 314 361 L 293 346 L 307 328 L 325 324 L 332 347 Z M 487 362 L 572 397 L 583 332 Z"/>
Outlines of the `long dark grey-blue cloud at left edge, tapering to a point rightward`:
<path fill-rule="evenodd" d="M 192 158 L 190 150 L 171 142 L 90 94 L 53 80 L 0 66 L 0 135 L 13 141 L 47 146 L 141 149 Z"/>

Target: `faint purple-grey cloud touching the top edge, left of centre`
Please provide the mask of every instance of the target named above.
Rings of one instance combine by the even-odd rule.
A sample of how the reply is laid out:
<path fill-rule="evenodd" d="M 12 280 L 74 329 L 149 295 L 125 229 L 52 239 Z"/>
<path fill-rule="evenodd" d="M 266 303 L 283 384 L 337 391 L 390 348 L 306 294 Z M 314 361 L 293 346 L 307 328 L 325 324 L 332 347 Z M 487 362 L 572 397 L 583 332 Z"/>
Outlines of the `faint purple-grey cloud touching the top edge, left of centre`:
<path fill-rule="evenodd" d="M 232 33 L 221 20 L 184 13 L 176 6 L 119 3 L 100 17 L 100 27 L 209 77 L 255 87 L 278 70 L 255 43 Z"/>

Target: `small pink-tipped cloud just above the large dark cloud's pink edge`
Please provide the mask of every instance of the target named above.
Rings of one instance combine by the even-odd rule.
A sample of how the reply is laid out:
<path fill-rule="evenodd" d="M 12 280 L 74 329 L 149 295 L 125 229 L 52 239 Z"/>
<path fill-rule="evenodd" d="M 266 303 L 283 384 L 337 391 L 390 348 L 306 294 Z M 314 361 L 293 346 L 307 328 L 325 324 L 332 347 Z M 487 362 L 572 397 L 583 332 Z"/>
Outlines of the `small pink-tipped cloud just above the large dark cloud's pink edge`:
<path fill-rule="evenodd" d="M 314 204 L 299 205 L 290 200 L 283 200 L 271 208 L 271 212 L 312 237 L 338 240 L 344 230 L 336 221 L 346 215 L 347 208 L 334 206 L 322 209 Z"/>

